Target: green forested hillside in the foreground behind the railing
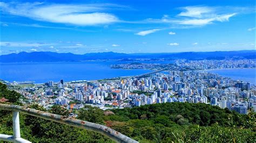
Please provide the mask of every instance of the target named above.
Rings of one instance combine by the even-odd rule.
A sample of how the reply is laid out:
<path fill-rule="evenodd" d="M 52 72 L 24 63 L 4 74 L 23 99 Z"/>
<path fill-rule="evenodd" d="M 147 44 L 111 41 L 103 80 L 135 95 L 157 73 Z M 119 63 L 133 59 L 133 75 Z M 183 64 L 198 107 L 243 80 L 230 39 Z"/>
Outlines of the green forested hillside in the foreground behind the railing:
<path fill-rule="evenodd" d="M 0 99 L 17 96 L 0 83 Z M 14 98 L 16 99 L 16 98 Z M 14 100 L 17 104 L 18 101 Z M 30 108 L 46 111 L 42 106 Z M 85 110 L 84 110 L 85 109 Z M 217 106 L 162 103 L 103 111 L 92 106 L 74 111 L 78 118 L 104 124 L 140 142 L 255 142 L 255 113 L 239 115 Z M 54 105 L 49 112 L 68 115 Z M 12 134 L 11 113 L 0 111 L 0 134 Z M 112 142 L 98 133 L 20 115 L 22 138 L 32 142 Z"/>

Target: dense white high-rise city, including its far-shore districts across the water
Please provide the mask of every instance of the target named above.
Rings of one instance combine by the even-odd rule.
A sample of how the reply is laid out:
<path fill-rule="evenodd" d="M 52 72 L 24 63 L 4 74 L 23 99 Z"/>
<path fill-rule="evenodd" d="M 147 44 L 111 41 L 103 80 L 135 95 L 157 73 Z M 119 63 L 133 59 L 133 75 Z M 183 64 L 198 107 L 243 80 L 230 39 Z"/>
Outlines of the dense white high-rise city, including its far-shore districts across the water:
<path fill-rule="evenodd" d="M 123 68 L 150 68 L 156 64 L 127 64 Z M 140 65 L 140 67 L 138 67 Z M 146 66 L 142 66 L 146 65 Z M 158 64 L 160 65 L 160 64 Z M 170 67 L 160 65 L 159 73 L 118 77 L 98 81 L 49 81 L 44 84 L 12 82 L 8 85 L 25 96 L 24 103 L 39 103 L 46 109 L 58 104 L 66 109 L 84 105 L 100 109 L 131 108 L 166 102 L 205 103 L 246 114 L 256 111 L 256 87 L 247 81 L 235 81 L 204 69 L 255 68 L 255 60 L 177 60 Z M 174 69 L 174 70 L 173 70 Z M 187 70 L 190 69 L 190 70 Z M 201 70 L 201 71 L 199 71 Z M 73 113 L 70 116 L 76 116 Z"/>

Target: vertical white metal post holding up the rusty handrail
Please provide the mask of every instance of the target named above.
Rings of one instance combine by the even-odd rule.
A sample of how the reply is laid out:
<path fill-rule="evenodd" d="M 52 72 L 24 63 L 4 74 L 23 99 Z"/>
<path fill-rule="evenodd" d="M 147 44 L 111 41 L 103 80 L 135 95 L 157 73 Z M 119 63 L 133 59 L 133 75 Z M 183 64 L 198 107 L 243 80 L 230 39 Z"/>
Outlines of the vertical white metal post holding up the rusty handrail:
<path fill-rule="evenodd" d="M 12 127 L 14 130 L 14 142 L 17 138 L 21 138 L 21 132 L 19 130 L 19 112 L 12 111 Z"/>

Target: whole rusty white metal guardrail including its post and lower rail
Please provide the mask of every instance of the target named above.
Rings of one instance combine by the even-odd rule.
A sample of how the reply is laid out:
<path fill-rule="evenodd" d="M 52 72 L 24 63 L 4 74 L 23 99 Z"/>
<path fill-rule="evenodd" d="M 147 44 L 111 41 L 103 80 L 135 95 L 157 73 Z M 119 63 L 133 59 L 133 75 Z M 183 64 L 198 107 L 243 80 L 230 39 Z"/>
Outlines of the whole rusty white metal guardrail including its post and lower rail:
<path fill-rule="evenodd" d="M 35 116 L 35 117 L 55 121 L 57 123 L 66 124 L 66 125 L 70 125 L 78 128 L 83 128 L 93 132 L 98 132 L 100 134 L 106 135 L 107 137 L 109 137 L 110 139 L 116 142 L 138 142 L 104 125 L 95 124 L 89 121 L 78 120 L 70 117 L 60 116 L 60 115 L 56 115 L 49 112 L 30 109 L 25 106 L 0 104 L 0 110 L 12 111 L 12 125 L 13 125 L 14 135 L 0 134 L 0 140 L 4 140 L 4 141 L 30 142 L 28 140 L 21 138 L 21 133 L 19 129 L 19 112 L 22 112 L 22 113 L 25 113 L 26 115 Z"/>

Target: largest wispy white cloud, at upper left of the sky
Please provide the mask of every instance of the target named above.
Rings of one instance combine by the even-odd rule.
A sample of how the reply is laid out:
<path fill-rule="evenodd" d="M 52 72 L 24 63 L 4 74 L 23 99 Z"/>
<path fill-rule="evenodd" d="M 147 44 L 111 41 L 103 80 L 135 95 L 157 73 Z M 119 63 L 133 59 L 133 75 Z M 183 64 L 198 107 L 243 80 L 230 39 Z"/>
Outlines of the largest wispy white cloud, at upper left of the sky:
<path fill-rule="evenodd" d="M 111 13 L 100 12 L 114 5 L 107 4 L 50 4 L 44 3 L 0 3 L 0 8 L 15 16 L 28 17 L 52 23 L 73 25 L 97 25 L 118 22 Z"/>

